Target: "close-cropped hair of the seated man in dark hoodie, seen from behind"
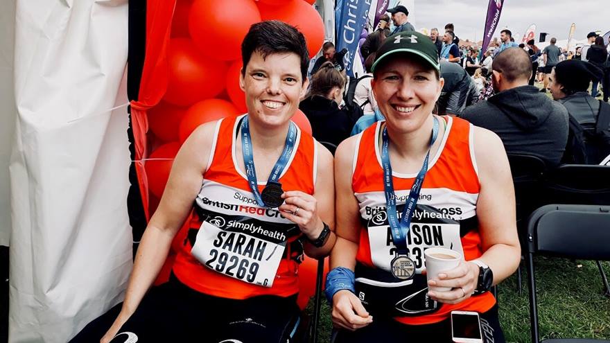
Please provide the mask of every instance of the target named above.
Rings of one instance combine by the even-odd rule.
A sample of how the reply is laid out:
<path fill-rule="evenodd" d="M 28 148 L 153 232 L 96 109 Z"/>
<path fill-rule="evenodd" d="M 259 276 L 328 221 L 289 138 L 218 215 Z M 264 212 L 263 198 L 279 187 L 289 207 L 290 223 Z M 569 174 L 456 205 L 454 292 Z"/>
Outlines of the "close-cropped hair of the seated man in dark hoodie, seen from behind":
<path fill-rule="evenodd" d="M 496 55 L 494 63 L 491 64 L 491 69 L 501 73 L 508 82 L 520 79 L 527 81 L 532 76 L 532 61 L 525 50 L 512 47 L 500 51 Z"/>

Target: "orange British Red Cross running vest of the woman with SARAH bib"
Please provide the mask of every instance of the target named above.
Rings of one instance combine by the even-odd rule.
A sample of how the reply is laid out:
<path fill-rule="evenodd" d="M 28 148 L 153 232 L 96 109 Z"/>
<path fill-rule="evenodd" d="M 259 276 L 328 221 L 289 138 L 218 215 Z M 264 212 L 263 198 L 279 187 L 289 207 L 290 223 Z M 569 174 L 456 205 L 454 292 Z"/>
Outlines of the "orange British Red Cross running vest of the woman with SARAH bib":
<path fill-rule="evenodd" d="M 265 294 L 288 297 L 299 292 L 298 263 L 295 260 L 301 252 L 291 247 L 299 244 L 295 240 L 301 236 L 301 231 L 293 222 L 282 217 L 277 209 L 259 206 L 254 200 L 244 171 L 238 170 L 235 141 L 238 139 L 242 117 L 224 118 L 216 125 L 209 166 L 203 175 L 201 191 L 195 199 L 189 218 L 189 235 L 176 256 L 173 272 L 177 279 L 190 288 L 215 297 L 247 299 Z M 279 178 L 284 191 L 313 194 L 317 168 L 316 149 L 313 137 L 297 127 L 293 155 Z M 265 184 L 266 182 L 259 182 L 259 191 L 263 190 Z M 279 262 L 272 287 L 247 283 L 220 274 L 202 265 L 193 257 L 191 249 L 202 225 L 200 213 L 204 215 L 215 213 L 223 218 L 239 218 L 241 224 L 237 225 L 241 225 L 241 228 L 245 227 L 244 230 L 248 227 L 243 223 L 251 223 L 253 220 L 258 224 L 262 223 L 261 229 L 264 229 L 265 222 L 268 225 L 288 228 L 285 232 L 288 240 L 286 251 Z"/>

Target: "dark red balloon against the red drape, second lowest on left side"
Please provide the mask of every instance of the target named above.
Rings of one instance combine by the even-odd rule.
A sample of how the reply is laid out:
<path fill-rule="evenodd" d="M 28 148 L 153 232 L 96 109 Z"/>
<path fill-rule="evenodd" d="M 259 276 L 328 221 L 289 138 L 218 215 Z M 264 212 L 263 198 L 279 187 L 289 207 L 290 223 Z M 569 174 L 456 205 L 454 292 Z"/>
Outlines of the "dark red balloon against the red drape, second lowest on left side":
<path fill-rule="evenodd" d="M 148 109 L 148 127 L 164 142 L 178 140 L 178 125 L 186 113 L 186 107 L 178 107 L 162 101 Z"/>

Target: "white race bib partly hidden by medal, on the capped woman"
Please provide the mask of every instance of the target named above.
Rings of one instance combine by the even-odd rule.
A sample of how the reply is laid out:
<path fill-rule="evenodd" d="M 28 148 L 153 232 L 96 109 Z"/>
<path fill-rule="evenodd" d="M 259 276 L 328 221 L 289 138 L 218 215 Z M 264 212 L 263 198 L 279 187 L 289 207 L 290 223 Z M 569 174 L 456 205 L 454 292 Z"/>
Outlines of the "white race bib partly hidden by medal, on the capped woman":
<path fill-rule="evenodd" d="M 403 206 L 397 208 L 399 216 Z M 385 208 L 374 213 L 368 220 L 367 229 L 374 265 L 389 272 L 392 259 L 397 256 L 397 247 Z M 429 247 L 452 249 L 464 256 L 460 223 L 432 206 L 417 204 L 407 234 L 407 248 L 418 273 L 425 267 L 424 250 Z"/>

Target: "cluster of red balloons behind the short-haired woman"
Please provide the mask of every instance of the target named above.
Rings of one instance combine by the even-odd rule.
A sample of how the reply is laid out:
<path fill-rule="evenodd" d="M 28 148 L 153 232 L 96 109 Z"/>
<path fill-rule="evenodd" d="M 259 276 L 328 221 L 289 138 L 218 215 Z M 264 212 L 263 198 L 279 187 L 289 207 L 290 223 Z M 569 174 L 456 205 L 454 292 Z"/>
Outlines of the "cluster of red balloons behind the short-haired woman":
<path fill-rule="evenodd" d="M 176 1 L 166 55 L 167 90 L 162 101 L 148 110 L 154 150 L 148 156 L 145 169 L 148 188 L 155 198 L 162 196 L 173 159 L 195 128 L 247 112 L 239 76 L 243 67 L 241 42 L 252 24 L 269 19 L 284 21 L 304 34 L 310 57 L 320 50 L 324 23 L 312 6 L 314 2 Z M 293 121 L 311 134 L 311 125 L 303 112 L 297 111 Z M 304 266 L 308 267 L 304 270 L 309 270 L 311 263 L 306 260 Z M 313 294 L 313 286 L 306 293 L 306 297 Z"/>

